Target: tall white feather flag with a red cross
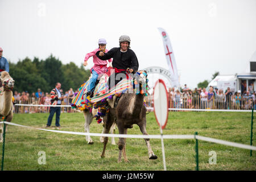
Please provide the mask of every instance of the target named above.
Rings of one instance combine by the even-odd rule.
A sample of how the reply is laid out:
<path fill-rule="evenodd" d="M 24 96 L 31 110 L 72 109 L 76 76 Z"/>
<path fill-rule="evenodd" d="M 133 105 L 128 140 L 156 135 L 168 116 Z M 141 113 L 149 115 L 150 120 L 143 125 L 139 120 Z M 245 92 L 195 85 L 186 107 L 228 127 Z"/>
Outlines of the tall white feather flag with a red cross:
<path fill-rule="evenodd" d="M 173 87 L 179 87 L 179 75 L 177 73 L 177 66 L 176 61 L 174 57 L 174 51 L 172 50 L 171 41 L 169 39 L 169 36 L 167 32 L 163 28 L 158 28 L 160 31 L 160 34 L 163 38 L 163 44 L 164 44 L 164 53 L 166 54 L 166 60 L 169 67 L 169 71 L 171 73 L 171 85 Z"/>

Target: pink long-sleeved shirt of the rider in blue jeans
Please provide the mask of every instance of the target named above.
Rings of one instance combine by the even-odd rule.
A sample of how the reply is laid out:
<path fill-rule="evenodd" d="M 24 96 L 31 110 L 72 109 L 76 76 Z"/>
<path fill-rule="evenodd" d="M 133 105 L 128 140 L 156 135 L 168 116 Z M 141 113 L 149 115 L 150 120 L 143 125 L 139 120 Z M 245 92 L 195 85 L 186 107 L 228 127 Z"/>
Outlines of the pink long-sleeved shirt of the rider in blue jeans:
<path fill-rule="evenodd" d="M 100 60 L 98 59 L 98 57 L 95 55 L 96 52 L 100 51 L 99 48 L 95 49 L 94 51 L 92 52 L 89 52 L 88 54 L 85 55 L 85 58 L 84 58 L 84 61 L 87 61 L 90 57 L 93 56 L 93 69 L 94 71 L 96 71 L 98 73 L 98 75 L 100 75 L 101 73 L 105 73 L 106 72 L 106 69 L 108 68 L 107 67 L 107 64 L 108 64 L 108 61 L 109 63 L 112 62 L 112 59 L 109 59 L 108 61 L 107 60 Z M 108 49 L 105 49 L 105 52 L 108 52 Z M 91 70 L 92 72 L 92 70 Z"/>

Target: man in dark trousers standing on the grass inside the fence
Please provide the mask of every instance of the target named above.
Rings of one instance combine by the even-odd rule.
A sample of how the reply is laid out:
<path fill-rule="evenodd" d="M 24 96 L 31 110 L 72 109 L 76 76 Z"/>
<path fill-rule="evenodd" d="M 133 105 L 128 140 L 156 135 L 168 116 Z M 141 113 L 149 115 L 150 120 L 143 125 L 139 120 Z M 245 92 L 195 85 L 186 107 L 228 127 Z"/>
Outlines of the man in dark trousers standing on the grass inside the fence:
<path fill-rule="evenodd" d="M 61 105 L 61 100 L 63 100 L 63 93 L 60 91 L 61 84 L 57 82 L 55 88 L 51 90 L 51 105 Z M 60 129 L 60 107 L 50 107 L 50 113 L 47 121 L 46 127 L 50 127 L 52 123 L 53 115 L 56 113 L 56 129 Z"/>

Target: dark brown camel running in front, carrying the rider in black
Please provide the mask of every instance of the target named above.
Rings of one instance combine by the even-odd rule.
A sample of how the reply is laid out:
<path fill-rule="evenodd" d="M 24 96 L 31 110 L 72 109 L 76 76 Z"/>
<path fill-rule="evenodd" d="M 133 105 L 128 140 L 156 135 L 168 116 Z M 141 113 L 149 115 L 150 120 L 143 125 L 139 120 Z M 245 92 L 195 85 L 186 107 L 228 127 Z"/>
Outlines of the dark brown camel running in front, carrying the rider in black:
<path fill-rule="evenodd" d="M 141 71 L 138 76 L 139 87 L 147 84 L 146 71 Z M 114 122 L 117 123 L 119 134 L 127 134 L 127 129 L 133 127 L 133 124 L 137 124 L 143 135 L 148 135 L 146 131 L 146 107 L 143 104 L 144 93 L 123 93 L 119 98 L 118 104 L 115 108 L 110 108 L 109 113 L 104 117 L 105 121 L 105 133 L 108 134 L 110 127 Z M 115 119 L 116 118 L 116 119 Z M 149 159 L 157 159 L 150 146 L 150 139 L 144 139 L 148 148 Z M 119 138 L 118 148 L 119 156 L 118 162 L 121 162 L 123 154 L 125 162 L 129 162 L 126 156 L 125 144 L 126 139 Z M 105 157 L 106 144 L 108 143 L 108 137 L 104 138 L 104 148 L 101 154 L 101 158 Z"/>

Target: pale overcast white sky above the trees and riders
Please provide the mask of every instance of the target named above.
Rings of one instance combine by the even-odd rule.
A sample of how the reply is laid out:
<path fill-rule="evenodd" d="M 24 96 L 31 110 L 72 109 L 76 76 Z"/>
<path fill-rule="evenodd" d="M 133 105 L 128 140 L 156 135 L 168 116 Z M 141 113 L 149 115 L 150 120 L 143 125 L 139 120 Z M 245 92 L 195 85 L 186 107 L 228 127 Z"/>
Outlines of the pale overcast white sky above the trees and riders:
<path fill-rule="evenodd" d="M 255 0 L 57 1 L 1 0 L 0 47 L 11 63 L 49 55 L 83 63 L 105 38 L 107 49 L 129 35 L 139 69 L 168 69 L 162 36 L 168 33 L 180 85 L 196 88 L 215 72 L 246 71 L 256 51 Z M 93 66 L 92 58 L 86 69 Z"/>

